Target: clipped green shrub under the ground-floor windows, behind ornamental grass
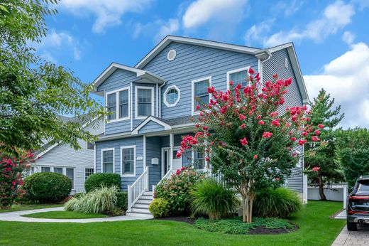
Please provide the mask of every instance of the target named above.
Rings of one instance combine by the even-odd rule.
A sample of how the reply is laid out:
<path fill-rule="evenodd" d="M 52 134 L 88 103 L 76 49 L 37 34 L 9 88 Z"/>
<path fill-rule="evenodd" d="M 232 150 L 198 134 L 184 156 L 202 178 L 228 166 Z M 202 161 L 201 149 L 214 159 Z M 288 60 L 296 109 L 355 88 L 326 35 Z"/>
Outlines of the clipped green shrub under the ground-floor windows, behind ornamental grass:
<path fill-rule="evenodd" d="M 94 173 L 84 181 L 84 189 L 86 192 L 90 192 L 95 188 L 101 188 L 101 186 L 121 187 L 121 176 L 117 173 Z"/>

